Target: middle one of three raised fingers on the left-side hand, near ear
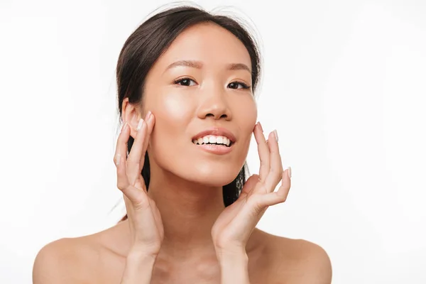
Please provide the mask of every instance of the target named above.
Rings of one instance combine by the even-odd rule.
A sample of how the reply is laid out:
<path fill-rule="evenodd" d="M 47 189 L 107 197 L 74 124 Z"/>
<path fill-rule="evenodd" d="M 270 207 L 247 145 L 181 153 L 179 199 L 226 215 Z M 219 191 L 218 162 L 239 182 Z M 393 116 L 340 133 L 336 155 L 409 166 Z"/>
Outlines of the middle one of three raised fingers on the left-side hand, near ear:
<path fill-rule="evenodd" d="M 136 137 L 127 158 L 127 176 L 131 185 L 134 185 L 138 176 L 141 175 L 141 157 L 145 155 L 143 142 L 145 141 L 147 130 L 146 122 L 140 119 L 136 128 Z"/>

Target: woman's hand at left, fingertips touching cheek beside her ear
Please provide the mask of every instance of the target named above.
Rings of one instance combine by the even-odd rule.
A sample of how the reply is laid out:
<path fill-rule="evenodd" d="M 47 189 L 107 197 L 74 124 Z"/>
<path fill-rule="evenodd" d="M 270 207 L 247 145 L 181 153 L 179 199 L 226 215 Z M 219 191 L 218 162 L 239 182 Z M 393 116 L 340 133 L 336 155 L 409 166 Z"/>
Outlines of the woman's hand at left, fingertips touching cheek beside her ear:
<path fill-rule="evenodd" d="M 164 237 L 163 222 L 155 202 L 148 197 L 141 175 L 146 148 L 153 131 L 155 119 L 148 111 L 145 121 L 136 129 L 136 138 L 126 160 L 130 126 L 125 124 L 119 135 L 114 163 L 117 170 L 117 187 L 124 195 L 131 232 L 131 250 L 157 256 Z"/>

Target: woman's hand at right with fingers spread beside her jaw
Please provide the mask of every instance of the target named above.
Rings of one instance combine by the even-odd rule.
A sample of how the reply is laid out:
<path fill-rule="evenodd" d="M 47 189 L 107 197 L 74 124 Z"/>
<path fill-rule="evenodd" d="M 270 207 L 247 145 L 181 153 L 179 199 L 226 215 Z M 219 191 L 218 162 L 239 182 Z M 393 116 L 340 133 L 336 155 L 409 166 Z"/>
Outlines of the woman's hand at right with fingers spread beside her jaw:
<path fill-rule="evenodd" d="M 261 125 L 256 124 L 253 133 L 261 160 L 259 175 L 252 175 L 246 181 L 238 200 L 226 207 L 214 223 L 212 239 L 218 257 L 245 253 L 251 232 L 266 209 L 285 202 L 290 190 L 291 169 L 290 173 L 283 172 L 276 132 L 271 132 L 266 141 Z M 274 192 L 280 180 L 281 186 Z"/>

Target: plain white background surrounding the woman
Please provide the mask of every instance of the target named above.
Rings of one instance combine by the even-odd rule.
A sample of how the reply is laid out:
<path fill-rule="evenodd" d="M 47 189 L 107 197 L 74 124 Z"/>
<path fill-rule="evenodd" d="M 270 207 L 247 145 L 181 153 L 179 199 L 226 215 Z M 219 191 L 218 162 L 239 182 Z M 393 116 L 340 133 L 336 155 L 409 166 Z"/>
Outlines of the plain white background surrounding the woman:
<path fill-rule="evenodd" d="M 31 283 L 42 246 L 124 214 L 116 60 L 166 3 L 1 0 L 0 283 Z M 293 185 L 258 228 L 320 244 L 333 283 L 426 283 L 426 1 L 197 3 L 260 36 L 258 119 Z"/>

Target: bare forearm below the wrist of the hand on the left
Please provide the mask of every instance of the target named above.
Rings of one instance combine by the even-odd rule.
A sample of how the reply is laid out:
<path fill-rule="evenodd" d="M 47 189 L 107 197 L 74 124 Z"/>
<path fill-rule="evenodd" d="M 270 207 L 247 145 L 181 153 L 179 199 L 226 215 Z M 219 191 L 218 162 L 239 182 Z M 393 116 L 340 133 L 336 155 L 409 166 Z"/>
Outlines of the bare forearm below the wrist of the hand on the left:
<path fill-rule="evenodd" d="M 156 256 L 131 251 L 126 258 L 126 267 L 120 284 L 149 284 Z"/>

